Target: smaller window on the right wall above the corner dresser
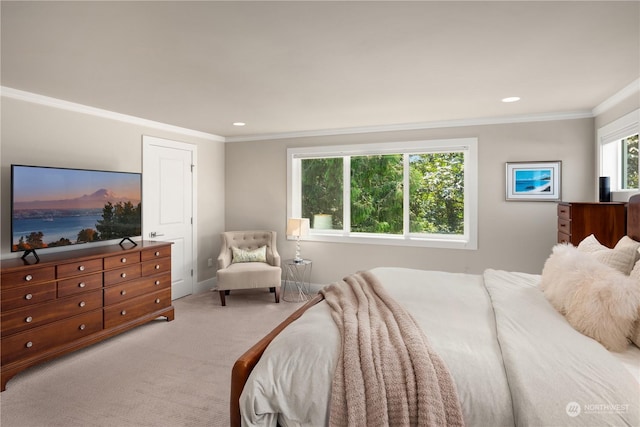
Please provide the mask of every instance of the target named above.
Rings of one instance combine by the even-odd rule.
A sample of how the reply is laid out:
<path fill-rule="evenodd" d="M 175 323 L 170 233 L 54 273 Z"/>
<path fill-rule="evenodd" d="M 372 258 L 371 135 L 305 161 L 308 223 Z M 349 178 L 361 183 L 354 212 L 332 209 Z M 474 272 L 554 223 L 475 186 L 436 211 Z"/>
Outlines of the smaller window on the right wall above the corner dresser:
<path fill-rule="evenodd" d="M 638 190 L 640 110 L 598 130 L 599 176 L 610 178 L 613 193 Z"/>

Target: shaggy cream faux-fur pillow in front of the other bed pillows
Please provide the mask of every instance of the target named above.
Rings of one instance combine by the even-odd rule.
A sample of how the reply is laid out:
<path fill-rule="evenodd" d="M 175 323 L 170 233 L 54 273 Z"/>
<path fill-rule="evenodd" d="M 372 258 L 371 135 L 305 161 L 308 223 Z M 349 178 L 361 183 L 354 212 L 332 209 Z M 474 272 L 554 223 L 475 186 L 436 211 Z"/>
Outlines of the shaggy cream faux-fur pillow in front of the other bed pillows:
<path fill-rule="evenodd" d="M 611 351 L 626 349 L 640 306 L 635 280 L 573 246 L 556 245 L 540 286 L 578 332 Z"/>

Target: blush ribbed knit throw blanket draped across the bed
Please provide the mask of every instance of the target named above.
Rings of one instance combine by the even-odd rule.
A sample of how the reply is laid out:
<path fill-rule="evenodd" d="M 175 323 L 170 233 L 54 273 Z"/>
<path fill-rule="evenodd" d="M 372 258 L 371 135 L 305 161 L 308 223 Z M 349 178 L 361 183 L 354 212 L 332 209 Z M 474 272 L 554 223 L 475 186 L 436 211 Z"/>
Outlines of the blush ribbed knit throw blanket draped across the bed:
<path fill-rule="evenodd" d="M 455 383 L 413 317 L 369 272 L 323 290 L 342 338 L 331 426 L 462 426 Z"/>

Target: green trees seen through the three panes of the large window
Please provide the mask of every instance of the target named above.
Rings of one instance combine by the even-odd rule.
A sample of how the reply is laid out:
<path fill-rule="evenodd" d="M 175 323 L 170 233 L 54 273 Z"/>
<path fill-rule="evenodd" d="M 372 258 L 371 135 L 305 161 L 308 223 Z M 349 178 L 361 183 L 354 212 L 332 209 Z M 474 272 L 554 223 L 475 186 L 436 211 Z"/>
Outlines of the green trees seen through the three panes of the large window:
<path fill-rule="evenodd" d="M 402 154 L 351 157 L 352 232 L 402 234 Z M 304 159 L 302 216 L 333 215 L 343 228 L 343 158 Z M 409 231 L 464 233 L 464 153 L 409 157 Z"/>

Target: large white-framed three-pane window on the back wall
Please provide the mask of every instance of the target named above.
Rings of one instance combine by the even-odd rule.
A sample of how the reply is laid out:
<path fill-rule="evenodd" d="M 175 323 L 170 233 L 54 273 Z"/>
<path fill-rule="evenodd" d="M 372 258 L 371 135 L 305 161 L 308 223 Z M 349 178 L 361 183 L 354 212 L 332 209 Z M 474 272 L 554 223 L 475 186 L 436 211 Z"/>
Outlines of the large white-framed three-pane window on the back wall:
<path fill-rule="evenodd" d="M 475 138 L 287 150 L 308 240 L 477 248 Z"/>

